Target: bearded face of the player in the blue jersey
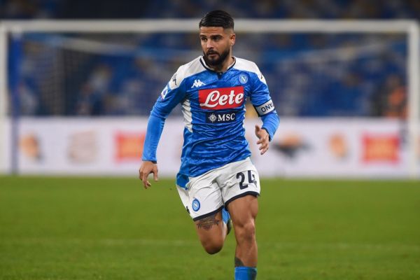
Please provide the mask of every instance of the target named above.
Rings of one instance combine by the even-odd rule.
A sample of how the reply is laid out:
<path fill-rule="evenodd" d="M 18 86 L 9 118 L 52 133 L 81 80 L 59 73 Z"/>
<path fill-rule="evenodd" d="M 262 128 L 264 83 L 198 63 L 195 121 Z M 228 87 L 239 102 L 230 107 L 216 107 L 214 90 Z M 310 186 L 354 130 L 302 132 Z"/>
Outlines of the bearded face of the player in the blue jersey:
<path fill-rule="evenodd" d="M 232 29 L 223 27 L 200 27 L 200 41 L 204 61 L 209 66 L 221 65 L 230 55 L 235 44 L 235 34 Z"/>

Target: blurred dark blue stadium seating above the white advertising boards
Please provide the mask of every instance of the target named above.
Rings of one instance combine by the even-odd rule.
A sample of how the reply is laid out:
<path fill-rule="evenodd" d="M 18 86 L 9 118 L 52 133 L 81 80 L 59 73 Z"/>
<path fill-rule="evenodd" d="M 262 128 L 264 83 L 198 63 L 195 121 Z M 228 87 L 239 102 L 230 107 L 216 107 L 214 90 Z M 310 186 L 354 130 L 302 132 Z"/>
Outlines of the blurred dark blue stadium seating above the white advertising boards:
<path fill-rule="evenodd" d="M 80 5 L 75 4 L 78 1 L 69 2 L 36 1 L 36 5 L 28 8 L 19 6 L 19 1 L 6 1 L 3 18 L 86 18 Z M 130 9 L 118 10 L 114 15 L 130 18 L 132 13 L 139 13 L 139 18 L 198 18 L 212 8 L 212 2 L 195 1 L 192 6 L 183 5 L 182 1 L 130 2 Z M 366 7 L 365 1 L 349 0 L 302 1 L 299 4 L 298 1 L 281 1 L 281 5 L 276 1 L 245 2 L 248 4 L 230 1 L 221 8 L 231 11 L 236 18 L 418 18 L 420 15 L 417 1 L 386 1 L 374 8 Z M 97 8 L 94 1 L 92 5 L 88 3 L 83 1 L 83 10 Z M 112 1 L 104 1 L 102 10 L 90 15 L 109 18 L 107 15 L 111 15 L 112 8 Z M 283 34 L 259 44 L 253 36 L 239 36 L 234 53 L 257 62 L 282 116 L 404 117 L 406 69 L 401 61 L 406 55 L 405 38 L 384 36 L 381 40 L 386 41 L 386 48 L 381 49 L 379 57 L 372 57 L 372 50 L 366 51 L 359 46 L 372 45 L 375 39 L 374 35 Z M 64 102 L 58 106 L 52 100 L 59 98 L 54 99 L 45 92 L 47 74 L 36 71 L 41 64 L 47 68 L 55 65 L 53 59 L 56 58 L 51 50 L 57 42 L 66 40 L 66 36 L 58 34 L 24 36 L 24 46 L 25 42 L 35 42 L 45 48 L 34 51 L 24 47 L 20 69 L 22 114 L 146 116 L 176 67 L 188 61 L 186 58 L 200 55 L 197 36 L 188 34 L 138 36 L 130 39 L 132 49 L 117 50 L 116 55 L 79 55 L 75 66 L 78 71 L 63 70 L 66 81 L 60 90 L 64 91 L 64 97 L 61 97 Z M 176 57 L 185 53 L 186 43 L 190 44 L 188 55 L 177 60 Z M 241 48 L 245 45 L 254 49 Z M 340 56 L 349 49 L 357 55 L 343 66 Z M 332 55 L 325 55 L 325 50 L 332 50 Z M 311 56 L 313 52 L 315 54 Z M 323 63 L 316 63 L 314 56 L 326 58 Z M 330 59 L 331 56 L 338 58 Z M 337 69 L 341 73 L 337 73 Z M 402 92 L 399 99 L 402 101 L 389 102 L 398 90 Z"/>

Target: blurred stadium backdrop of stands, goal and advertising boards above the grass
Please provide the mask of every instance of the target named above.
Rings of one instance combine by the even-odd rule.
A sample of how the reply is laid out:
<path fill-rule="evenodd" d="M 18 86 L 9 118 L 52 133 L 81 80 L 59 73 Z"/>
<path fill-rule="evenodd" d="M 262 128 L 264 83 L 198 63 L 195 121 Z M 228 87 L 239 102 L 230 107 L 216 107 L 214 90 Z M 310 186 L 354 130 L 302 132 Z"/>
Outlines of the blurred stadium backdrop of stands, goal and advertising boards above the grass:
<path fill-rule="evenodd" d="M 418 1 L 186 3 L 4 1 L 1 172 L 133 174 L 148 113 L 200 55 L 197 20 L 214 5 L 237 18 L 235 55 L 260 66 L 281 116 L 254 157 L 262 175 L 419 178 Z M 158 151 L 164 176 L 179 165 L 180 118 Z M 250 107 L 252 143 L 255 122 Z"/>

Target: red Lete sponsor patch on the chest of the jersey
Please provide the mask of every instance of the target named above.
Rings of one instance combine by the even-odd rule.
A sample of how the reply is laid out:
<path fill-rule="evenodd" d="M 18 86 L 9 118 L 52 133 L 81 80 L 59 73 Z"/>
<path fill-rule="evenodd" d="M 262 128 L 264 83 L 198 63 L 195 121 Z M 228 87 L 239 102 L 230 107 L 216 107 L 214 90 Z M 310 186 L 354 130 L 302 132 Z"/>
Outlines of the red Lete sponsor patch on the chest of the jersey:
<path fill-rule="evenodd" d="M 202 109 L 237 108 L 244 103 L 244 87 L 221 87 L 198 91 Z"/>

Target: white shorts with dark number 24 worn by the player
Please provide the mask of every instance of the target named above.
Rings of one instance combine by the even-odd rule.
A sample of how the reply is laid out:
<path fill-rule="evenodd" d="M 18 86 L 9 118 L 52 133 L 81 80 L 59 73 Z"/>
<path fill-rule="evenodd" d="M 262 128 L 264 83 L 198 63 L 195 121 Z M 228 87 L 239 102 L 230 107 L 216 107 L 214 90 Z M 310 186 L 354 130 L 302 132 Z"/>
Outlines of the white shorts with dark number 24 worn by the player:
<path fill-rule="evenodd" d="M 260 195 L 260 178 L 249 158 L 231 162 L 197 177 L 185 188 L 177 187 L 181 201 L 194 221 L 221 211 L 245 195 Z"/>

